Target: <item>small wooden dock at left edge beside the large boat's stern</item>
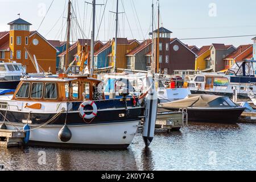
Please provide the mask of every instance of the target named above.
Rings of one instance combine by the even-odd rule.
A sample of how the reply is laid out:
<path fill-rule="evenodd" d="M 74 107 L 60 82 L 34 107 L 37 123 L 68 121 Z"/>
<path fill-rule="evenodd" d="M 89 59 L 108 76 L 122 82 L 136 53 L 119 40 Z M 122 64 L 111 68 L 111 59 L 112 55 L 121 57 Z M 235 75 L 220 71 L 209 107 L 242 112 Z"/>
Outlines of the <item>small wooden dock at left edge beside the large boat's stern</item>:
<path fill-rule="evenodd" d="M 0 146 L 19 147 L 23 144 L 26 133 L 23 131 L 0 130 Z"/>

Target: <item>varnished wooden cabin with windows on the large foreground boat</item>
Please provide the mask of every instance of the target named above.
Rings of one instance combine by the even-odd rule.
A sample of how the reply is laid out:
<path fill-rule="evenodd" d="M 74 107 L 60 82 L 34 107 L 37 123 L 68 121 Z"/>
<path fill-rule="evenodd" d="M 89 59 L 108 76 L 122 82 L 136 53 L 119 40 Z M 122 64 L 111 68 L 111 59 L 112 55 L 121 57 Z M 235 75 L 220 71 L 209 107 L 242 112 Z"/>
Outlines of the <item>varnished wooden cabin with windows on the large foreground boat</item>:
<path fill-rule="evenodd" d="M 12 100 L 46 102 L 80 102 L 104 100 L 101 80 L 86 76 L 24 77 Z"/>

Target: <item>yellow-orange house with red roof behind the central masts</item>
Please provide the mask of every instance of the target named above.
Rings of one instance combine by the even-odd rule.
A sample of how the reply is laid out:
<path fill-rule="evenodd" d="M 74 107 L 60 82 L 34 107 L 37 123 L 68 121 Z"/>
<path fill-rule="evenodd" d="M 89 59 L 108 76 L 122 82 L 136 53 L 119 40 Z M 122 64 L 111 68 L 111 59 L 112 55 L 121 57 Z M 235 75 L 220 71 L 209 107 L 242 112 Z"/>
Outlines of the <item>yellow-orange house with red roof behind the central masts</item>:
<path fill-rule="evenodd" d="M 127 38 L 117 38 L 117 60 L 116 60 L 116 68 L 126 69 L 127 68 L 127 53 L 131 52 L 133 49 L 139 46 L 139 42 L 137 40 L 127 40 Z M 112 53 L 109 55 L 109 66 L 114 66 L 113 58 L 114 58 L 114 50 L 115 50 L 115 39 L 112 40 Z"/>

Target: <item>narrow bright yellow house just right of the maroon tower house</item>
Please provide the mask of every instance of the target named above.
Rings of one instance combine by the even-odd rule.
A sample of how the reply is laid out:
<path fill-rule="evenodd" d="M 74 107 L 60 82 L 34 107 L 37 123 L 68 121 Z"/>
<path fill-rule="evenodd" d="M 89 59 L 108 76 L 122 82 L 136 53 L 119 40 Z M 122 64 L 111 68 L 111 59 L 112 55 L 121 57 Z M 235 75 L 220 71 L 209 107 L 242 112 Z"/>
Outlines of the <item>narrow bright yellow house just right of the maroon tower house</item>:
<path fill-rule="evenodd" d="M 203 46 L 196 52 L 196 66 L 195 70 L 204 70 L 207 68 L 205 58 L 210 56 L 210 46 Z"/>

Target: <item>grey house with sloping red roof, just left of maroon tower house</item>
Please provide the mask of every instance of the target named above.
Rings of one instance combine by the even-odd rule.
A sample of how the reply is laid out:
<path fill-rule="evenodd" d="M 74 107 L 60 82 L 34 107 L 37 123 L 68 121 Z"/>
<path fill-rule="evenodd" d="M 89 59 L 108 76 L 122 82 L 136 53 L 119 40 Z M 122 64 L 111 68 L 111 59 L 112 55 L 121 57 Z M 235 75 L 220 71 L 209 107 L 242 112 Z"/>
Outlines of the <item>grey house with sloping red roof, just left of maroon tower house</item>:
<path fill-rule="evenodd" d="M 127 53 L 127 69 L 147 71 L 147 65 L 151 63 L 151 57 L 147 56 L 152 50 L 152 40 L 144 40 L 139 47 Z"/>

